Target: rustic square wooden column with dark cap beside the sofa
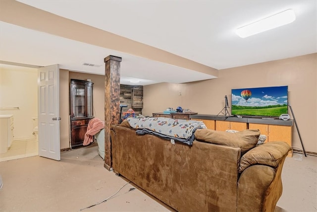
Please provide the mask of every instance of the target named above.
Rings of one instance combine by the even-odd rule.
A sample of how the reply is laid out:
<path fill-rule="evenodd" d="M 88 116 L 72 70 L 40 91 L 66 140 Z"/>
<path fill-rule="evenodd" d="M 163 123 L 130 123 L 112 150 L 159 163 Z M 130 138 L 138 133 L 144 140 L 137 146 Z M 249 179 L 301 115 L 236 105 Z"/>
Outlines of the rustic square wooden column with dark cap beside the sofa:
<path fill-rule="evenodd" d="M 110 127 L 120 121 L 120 62 L 122 58 L 109 55 L 105 58 L 105 164 L 112 170 Z"/>

